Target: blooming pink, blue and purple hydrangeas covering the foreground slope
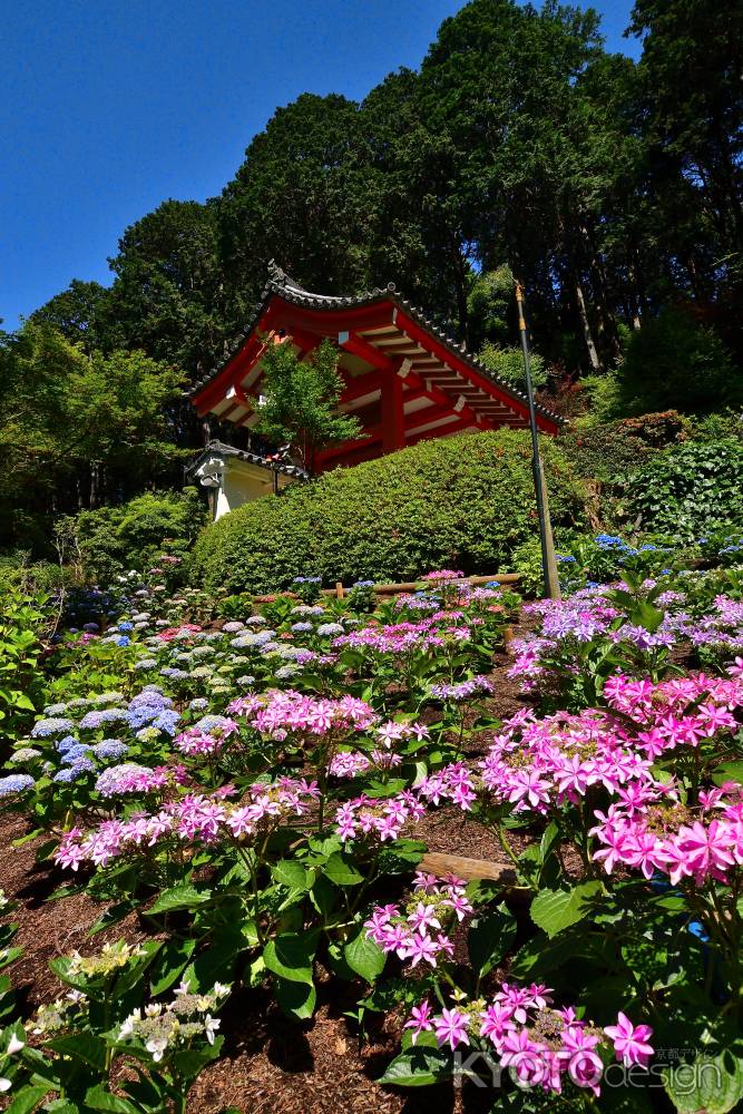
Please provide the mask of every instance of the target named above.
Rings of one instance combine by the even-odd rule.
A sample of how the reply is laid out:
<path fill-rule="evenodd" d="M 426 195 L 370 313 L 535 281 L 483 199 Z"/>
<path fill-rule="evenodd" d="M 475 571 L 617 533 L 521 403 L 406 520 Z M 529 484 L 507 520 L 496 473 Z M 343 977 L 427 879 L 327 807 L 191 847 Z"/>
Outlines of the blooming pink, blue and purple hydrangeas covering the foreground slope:
<path fill-rule="evenodd" d="M 56 959 L 33 1016 L 0 981 L 0 1087 L 186 1110 L 231 988 L 306 1022 L 322 967 L 360 1035 L 397 1034 L 382 1085 L 525 1114 L 743 1102 L 743 584 L 647 571 L 526 605 L 500 681 L 518 597 L 456 569 L 379 605 L 309 578 L 310 602 L 221 608 L 158 567 L 60 629 L 0 794 L 101 902 L 94 935 L 141 931 Z M 487 877 L 423 862 L 440 820 L 497 849 Z"/>

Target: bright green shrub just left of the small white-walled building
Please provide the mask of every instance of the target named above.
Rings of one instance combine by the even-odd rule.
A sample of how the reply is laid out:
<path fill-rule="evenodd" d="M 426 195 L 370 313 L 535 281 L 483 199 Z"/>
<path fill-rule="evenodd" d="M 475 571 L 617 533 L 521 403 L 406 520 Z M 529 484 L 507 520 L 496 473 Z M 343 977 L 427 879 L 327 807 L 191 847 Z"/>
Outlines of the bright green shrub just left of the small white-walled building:
<path fill-rule="evenodd" d="M 206 520 L 195 488 L 155 491 L 119 507 L 84 510 L 60 528 L 75 536 L 86 577 L 111 579 L 146 569 L 164 551 L 183 556 Z"/>

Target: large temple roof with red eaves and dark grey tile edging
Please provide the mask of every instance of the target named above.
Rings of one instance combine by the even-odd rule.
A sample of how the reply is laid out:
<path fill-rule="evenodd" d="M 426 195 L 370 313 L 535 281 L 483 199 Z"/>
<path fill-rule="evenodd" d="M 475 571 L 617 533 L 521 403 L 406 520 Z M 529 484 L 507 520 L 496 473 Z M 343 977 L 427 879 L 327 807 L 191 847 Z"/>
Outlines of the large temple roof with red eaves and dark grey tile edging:
<path fill-rule="evenodd" d="M 245 325 L 224 359 L 192 392 L 194 404 L 199 412 L 212 410 L 226 420 L 244 420 L 248 408 L 233 402 L 225 409 L 225 400 L 234 397 L 245 399 L 244 390 L 255 384 L 250 368 L 258 360 L 256 335 L 273 328 L 285 329 L 294 335 L 295 329 L 317 332 L 332 339 L 358 340 L 368 353 L 402 359 L 413 371 L 413 380 L 424 381 L 429 391 L 440 397 L 448 392 L 452 407 L 462 408 L 476 414 L 476 421 L 488 426 L 528 424 L 528 400 L 525 392 L 496 375 L 490 369 L 472 356 L 463 344 L 459 344 L 440 329 L 423 311 L 399 294 L 393 283 L 354 295 L 317 294 L 304 290 L 272 261 L 268 281 L 262 300 L 251 321 Z M 300 345 L 301 346 L 301 345 Z M 349 350 L 353 352 L 351 343 Z M 364 355 L 356 352 L 361 360 Z M 374 358 L 366 359 L 374 365 Z M 379 367 L 379 364 L 377 364 Z M 401 372 L 401 374 L 407 372 Z M 548 432 L 557 432 L 561 419 L 547 408 L 536 405 L 539 426 Z M 233 417 L 239 413 L 239 418 Z M 248 421 L 250 423 L 250 421 Z"/>

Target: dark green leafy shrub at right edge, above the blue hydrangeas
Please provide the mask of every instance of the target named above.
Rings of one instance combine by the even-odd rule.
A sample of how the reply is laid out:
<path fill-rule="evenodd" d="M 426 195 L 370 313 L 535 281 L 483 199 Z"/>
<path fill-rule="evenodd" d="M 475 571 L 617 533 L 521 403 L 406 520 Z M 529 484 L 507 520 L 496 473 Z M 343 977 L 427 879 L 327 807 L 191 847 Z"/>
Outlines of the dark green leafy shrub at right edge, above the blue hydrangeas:
<path fill-rule="evenodd" d="M 658 452 L 627 482 L 644 530 L 680 539 L 743 524 L 743 444 L 732 438 L 688 441 Z"/>

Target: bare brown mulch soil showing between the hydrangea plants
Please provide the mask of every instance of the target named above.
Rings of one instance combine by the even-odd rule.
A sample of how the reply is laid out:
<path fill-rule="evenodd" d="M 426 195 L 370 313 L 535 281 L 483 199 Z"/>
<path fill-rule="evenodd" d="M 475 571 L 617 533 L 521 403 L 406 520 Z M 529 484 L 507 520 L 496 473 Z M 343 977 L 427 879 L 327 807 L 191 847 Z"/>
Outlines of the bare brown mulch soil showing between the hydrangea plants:
<path fill-rule="evenodd" d="M 506 654 L 493 661 L 496 694 L 486 707 L 493 717 L 506 717 L 524 706 L 518 685 L 506 677 Z M 489 732 L 468 740 L 467 756 L 485 753 Z M 36 863 L 36 846 L 12 843 L 28 831 L 20 817 L 0 815 L 0 886 L 17 900 L 12 913 L 19 931 L 16 944 L 23 955 L 12 968 L 13 985 L 25 1015 L 61 993 L 49 970 L 49 960 L 74 949 L 84 955 L 124 937 L 134 944 L 145 938 L 135 913 L 113 928 L 89 937 L 104 911 L 87 893 L 49 900 L 69 876 L 53 864 Z M 471 817 L 453 807 L 430 812 L 410 833 L 431 851 L 504 861 L 497 839 Z M 517 851 L 528 840 L 511 838 Z M 393 1091 L 374 1082 L 399 1049 L 402 1018 L 373 1015 L 366 1039 L 360 1042 L 346 1024 L 344 1010 L 353 1009 L 358 987 L 329 975 L 319 980 L 317 1010 L 312 1022 L 296 1025 L 280 1013 L 268 991 L 239 990 L 222 1013 L 225 1035 L 222 1056 L 199 1076 L 188 1101 L 188 1114 L 480 1114 L 489 1111 L 492 1092 L 469 1085 L 418 1091 Z"/>

